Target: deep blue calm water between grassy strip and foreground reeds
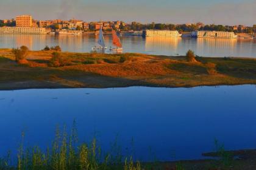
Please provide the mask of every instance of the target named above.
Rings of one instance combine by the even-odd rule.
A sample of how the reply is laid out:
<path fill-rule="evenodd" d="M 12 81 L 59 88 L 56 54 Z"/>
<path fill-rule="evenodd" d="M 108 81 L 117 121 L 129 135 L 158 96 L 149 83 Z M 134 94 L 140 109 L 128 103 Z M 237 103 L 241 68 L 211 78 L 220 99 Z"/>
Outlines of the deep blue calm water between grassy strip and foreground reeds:
<path fill-rule="evenodd" d="M 150 150 L 159 160 L 201 158 L 215 138 L 226 149 L 255 148 L 255 102 L 255 86 L 1 91 L 0 153 L 18 148 L 21 131 L 29 144 L 51 144 L 55 125 L 74 118 L 80 141 L 96 134 L 107 150 L 116 135 L 123 149 L 134 138 L 143 160 Z"/>

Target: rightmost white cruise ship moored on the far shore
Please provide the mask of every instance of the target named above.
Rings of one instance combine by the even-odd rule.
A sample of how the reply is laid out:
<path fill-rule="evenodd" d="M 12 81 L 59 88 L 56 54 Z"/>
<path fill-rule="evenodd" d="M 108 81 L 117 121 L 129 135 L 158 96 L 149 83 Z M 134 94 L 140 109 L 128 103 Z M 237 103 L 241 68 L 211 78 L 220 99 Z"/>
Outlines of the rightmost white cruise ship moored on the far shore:
<path fill-rule="evenodd" d="M 216 32 L 216 31 L 195 31 L 191 33 L 194 38 L 237 38 L 233 32 Z"/>

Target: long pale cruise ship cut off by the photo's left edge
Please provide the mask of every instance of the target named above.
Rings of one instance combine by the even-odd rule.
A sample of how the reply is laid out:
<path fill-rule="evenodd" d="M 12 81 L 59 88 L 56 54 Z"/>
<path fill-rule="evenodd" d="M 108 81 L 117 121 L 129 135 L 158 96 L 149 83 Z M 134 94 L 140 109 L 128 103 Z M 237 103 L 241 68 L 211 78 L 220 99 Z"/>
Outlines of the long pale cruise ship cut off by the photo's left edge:
<path fill-rule="evenodd" d="M 0 27 L 0 33 L 46 34 L 49 31 L 37 27 Z"/>

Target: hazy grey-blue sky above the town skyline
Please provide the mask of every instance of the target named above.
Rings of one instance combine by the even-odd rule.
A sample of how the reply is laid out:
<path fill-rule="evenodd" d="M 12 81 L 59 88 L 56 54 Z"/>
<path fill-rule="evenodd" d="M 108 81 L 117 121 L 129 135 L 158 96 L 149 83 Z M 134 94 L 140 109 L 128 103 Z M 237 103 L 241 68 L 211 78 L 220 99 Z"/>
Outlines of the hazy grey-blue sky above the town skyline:
<path fill-rule="evenodd" d="M 0 19 L 122 20 L 206 24 L 256 24 L 256 0 L 0 0 Z"/>

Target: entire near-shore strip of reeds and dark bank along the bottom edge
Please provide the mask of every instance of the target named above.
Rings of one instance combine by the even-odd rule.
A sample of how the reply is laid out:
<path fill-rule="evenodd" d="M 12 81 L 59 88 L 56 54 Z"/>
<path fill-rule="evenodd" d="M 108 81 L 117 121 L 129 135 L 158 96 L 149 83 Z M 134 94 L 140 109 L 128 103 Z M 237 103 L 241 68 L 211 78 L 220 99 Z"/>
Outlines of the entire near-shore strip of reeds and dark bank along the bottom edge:
<path fill-rule="evenodd" d="M 39 146 L 27 146 L 25 136 L 26 134 L 22 132 L 20 146 L 15 157 L 11 151 L 7 153 L 6 157 L 0 157 L 1 170 L 251 170 L 256 167 L 256 150 L 226 151 L 224 144 L 219 143 L 218 140 L 215 140 L 214 152 L 203 154 L 216 157 L 215 159 L 161 162 L 157 161 L 155 155 L 152 155 L 154 160 L 140 162 L 133 157 L 135 154 L 134 144 L 132 144 L 132 148 L 126 147 L 126 152 L 130 155 L 123 155 L 123 149 L 119 146 L 117 139 L 111 144 L 111 149 L 108 152 L 102 151 L 96 138 L 93 138 L 90 143 L 81 143 L 75 120 L 70 133 L 65 125 L 62 131 L 59 126 L 56 127 L 51 147 L 41 149 Z M 2 153 L 0 154 L 2 155 Z M 235 157 L 239 157 L 239 159 Z"/>

